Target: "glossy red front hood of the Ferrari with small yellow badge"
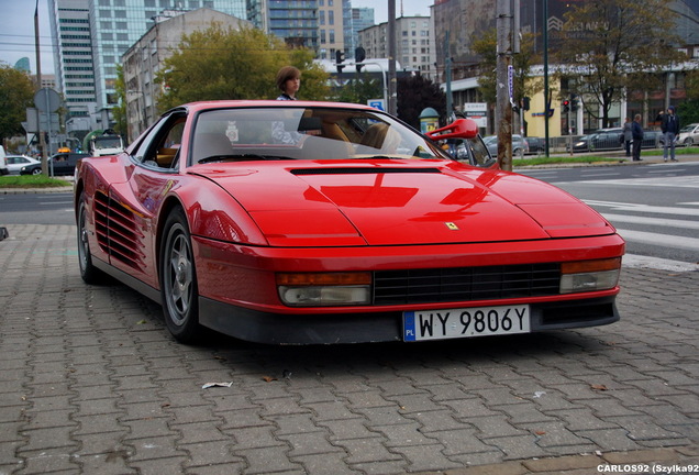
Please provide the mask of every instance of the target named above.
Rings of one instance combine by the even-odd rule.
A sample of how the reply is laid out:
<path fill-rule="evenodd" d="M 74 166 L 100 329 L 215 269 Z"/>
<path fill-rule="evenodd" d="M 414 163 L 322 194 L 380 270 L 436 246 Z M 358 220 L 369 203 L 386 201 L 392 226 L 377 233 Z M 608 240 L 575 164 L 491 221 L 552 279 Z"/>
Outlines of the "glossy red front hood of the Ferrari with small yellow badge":
<path fill-rule="evenodd" d="M 230 166 L 229 166 L 230 165 Z M 543 181 L 450 161 L 208 164 L 270 245 L 546 240 L 614 230 Z"/>

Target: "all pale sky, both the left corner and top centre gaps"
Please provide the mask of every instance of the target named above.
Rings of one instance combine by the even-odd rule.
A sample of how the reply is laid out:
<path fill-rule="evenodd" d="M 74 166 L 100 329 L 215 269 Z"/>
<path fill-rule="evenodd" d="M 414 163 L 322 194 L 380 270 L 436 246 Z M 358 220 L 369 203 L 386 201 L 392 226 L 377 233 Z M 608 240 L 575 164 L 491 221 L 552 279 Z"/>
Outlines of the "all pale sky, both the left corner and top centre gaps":
<path fill-rule="evenodd" d="M 38 1 L 38 34 L 42 59 L 42 75 L 54 74 L 54 57 L 48 26 L 48 1 Z M 395 0 L 396 15 L 430 15 L 434 0 Z M 388 21 L 388 0 L 352 0 L 353 8 L 373 8 L 374 21 Z M 402 10 L 401 10 L 402 7 Z M 29 57 L 32 74 L 36 73 L 36 49 L 34 41 L 34 11 L 36 0 L 0 0 L 0 62 L 10 66 L 22 57 Z"/>

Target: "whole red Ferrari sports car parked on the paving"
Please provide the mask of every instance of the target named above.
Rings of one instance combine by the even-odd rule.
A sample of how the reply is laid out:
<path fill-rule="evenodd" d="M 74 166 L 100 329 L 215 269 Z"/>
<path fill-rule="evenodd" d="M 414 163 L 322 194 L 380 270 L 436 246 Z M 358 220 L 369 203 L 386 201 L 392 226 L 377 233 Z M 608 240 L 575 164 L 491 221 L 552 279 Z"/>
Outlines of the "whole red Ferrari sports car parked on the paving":
<path fill-rule="evenodd" d="M 476 139 L 467 120 L 432 134 Z M 451 158 L 356 104 L 215 101 L 76 170 L 82 278 L 268 343 L 422 341 L 598 325 L 624 242 L 545 183 Z"/>

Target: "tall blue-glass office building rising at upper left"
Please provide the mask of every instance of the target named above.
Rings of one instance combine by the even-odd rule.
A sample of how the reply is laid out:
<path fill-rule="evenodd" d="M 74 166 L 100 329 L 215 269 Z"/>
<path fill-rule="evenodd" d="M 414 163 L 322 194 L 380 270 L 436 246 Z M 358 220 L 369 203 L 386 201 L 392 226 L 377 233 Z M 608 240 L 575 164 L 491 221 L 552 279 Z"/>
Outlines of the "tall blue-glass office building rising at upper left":
<path fill-rule="evenodd" d="M 48 0 L 56 75 L 69 118 L 112 125 L 121 56 L 166 10 L 209 8 L 245 19 L 245 0 Z M 186 7 L 186 8 L 185 8 Z"/>

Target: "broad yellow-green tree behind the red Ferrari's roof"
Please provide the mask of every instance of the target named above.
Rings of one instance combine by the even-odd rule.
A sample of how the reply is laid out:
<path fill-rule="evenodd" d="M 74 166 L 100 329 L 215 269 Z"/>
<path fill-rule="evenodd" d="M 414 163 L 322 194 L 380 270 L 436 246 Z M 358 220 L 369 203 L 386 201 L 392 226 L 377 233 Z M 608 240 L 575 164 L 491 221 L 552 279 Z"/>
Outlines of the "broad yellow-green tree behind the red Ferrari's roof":
<path fill-rule="evenodd" d="M 277 71 L 286 65 L 302 73 L 301 99 L 328 97 L 328 75 L 313 64 L 313 52 L 289 48 L 260 30 L 223 29 L 214 23 L 182 36 L 164 62 L 156 81 L 166 85 L 168 92 L 159 98 L 158 108 L 164 111 L 198 100 L 275 99 Z"/>

